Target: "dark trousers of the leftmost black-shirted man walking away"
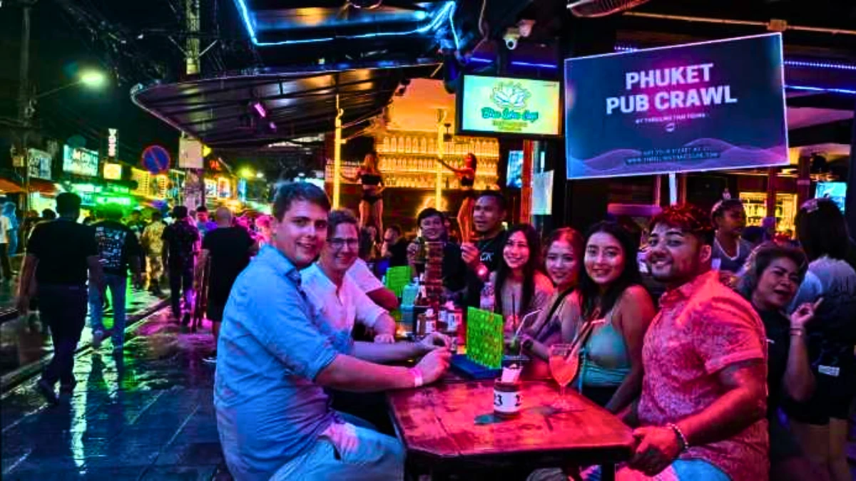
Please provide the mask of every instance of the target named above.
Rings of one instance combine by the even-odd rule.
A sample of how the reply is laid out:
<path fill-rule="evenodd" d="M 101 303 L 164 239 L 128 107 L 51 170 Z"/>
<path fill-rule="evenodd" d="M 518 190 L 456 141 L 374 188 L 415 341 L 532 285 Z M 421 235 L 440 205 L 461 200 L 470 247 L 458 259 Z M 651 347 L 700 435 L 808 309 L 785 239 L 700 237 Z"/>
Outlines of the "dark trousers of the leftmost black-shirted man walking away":
<path fill-rule="evenodd" d="M 74 383 L 74 351 L 86 324 L 86 286 L 39 285 L 39 312 L 51 327 L 54 355 L 42 379 L 51 385 Z"/>

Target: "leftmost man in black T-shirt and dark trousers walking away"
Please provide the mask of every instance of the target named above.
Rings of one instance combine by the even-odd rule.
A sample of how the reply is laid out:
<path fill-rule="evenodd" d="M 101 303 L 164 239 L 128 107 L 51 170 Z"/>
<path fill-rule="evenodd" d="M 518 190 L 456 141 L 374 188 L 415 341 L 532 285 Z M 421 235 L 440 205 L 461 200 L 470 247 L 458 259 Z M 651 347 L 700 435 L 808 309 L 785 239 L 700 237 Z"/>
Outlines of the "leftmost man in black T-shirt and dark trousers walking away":
<path fill-rule="evenodd" d="M 42 321 L 51 327 L 54 353 L 37 384 L 45 400 L 56 404 L 56 382 L 60 393 L 74 390 L 74 352 L 86 323 L 86 279 L 104 288 L 98 245 L 91 227 L 77 223 L 80 197 L 74 193 L 56 196 L 55 221 L 39 223 L 27 243 L 18 285 L 18 311 L 27 312 L 30 298 L 39 296 Z"/>

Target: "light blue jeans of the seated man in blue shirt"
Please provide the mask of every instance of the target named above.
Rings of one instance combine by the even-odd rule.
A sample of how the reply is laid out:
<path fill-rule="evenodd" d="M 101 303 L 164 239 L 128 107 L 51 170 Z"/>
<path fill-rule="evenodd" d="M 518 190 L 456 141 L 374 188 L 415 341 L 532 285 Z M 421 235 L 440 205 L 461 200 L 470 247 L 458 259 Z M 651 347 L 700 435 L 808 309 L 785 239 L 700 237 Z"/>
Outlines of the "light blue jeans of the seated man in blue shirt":
<path fill-rule="evenodd" d="M 270 479 L 398 480 L 404 478 L 404 455 L 394 437 L 350 423 L 333 424 L 312 448 L 289 460 Z"/>

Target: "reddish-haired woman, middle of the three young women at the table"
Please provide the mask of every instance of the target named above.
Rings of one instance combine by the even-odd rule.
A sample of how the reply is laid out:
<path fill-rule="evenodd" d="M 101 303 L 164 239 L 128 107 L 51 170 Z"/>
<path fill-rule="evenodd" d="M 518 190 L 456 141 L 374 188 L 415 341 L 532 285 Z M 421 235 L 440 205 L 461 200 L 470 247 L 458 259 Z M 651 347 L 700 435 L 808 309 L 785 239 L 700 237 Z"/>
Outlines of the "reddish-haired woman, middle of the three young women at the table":
<path fill-rule="evenodd" d="M 577 287 L 582 259 L 583 236 L 574 229 L 556 229 L 544 241 L 544 270 L 555 290 L 517 340 L 532 357 L 526 365 L 527 377 L 550 377 L 550 346 L 562 341 L 562 319 L 568 316 L 568 300 Z"/>

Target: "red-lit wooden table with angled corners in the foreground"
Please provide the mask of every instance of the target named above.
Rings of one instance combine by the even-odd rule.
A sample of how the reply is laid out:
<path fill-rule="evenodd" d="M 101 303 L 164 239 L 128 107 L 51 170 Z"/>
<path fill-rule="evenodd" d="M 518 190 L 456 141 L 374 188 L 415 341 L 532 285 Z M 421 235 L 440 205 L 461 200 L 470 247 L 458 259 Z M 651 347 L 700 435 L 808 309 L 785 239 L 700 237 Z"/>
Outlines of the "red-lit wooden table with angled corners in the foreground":
<path fill-rule="evenodd" d="M 604 479 L 630 458 L 633 436 L 613 414 L 568 389 L 573 407 L 556 413 L 555 383 L 524 382 L 514 419 L 493 416 L 493 381 L 439 383 L 388 395 L 393 425 L 407 448 L 408 472 L 499 472 L 602 464 Z M 496 477 L 492 477 L 496 478 Z"/>

